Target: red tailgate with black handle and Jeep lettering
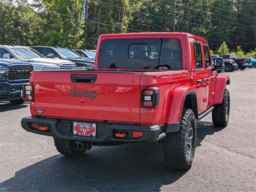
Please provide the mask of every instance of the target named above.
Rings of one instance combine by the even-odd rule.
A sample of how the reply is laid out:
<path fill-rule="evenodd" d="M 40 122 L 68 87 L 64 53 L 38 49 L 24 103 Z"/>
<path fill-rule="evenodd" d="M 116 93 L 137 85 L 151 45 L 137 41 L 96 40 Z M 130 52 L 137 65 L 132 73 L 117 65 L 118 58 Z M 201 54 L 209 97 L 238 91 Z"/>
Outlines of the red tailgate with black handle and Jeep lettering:
<path fill-rule="evenodd" d="M 44 71 L 31 83 L 41 117 L 140 122 L 140 74 Z"/>

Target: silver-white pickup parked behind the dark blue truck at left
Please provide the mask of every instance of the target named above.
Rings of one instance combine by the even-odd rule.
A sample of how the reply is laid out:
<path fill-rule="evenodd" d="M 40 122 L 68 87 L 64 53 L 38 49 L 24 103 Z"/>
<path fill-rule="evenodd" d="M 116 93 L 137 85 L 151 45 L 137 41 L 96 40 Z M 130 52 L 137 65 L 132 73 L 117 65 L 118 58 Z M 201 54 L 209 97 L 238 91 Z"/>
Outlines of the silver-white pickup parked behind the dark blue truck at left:
<path fill-rule="evenodd" d="M 26 46 L 0 45 L 0 58 L 18 59 L 32 64 L 34 70 L 72 70 L 74 62 L 62 59 L 45 58 L 36 50 Z"/>

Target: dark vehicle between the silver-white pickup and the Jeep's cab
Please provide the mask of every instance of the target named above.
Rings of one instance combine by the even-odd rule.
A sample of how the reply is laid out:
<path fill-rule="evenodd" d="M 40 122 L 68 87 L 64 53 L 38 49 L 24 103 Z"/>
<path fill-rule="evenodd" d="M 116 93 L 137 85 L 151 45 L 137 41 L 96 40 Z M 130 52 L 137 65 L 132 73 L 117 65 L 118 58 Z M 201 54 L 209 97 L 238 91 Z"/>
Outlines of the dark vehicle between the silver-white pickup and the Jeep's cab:
<path fill-rule="evenodd" d="M 68 48 L 60 48 L 58 46 L 31 46 L 31 48 L 40 52 L 46 58 L 66 59 L 76 64 L 77 69 L 93 69 L 94 60 L 83 58 L 80 54 Z"/>

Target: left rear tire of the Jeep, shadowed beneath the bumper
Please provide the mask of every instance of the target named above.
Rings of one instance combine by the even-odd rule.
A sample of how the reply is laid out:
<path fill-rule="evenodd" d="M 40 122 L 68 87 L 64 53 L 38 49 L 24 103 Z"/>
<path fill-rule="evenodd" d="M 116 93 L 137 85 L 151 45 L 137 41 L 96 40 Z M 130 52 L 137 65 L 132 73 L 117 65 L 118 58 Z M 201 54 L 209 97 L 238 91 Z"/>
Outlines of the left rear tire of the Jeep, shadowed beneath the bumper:
<path fill-rule="evenodd" d="M 72 140 L 65 140 L 65 139 L 59 139 L 59 138 L 54 138 L 54 145 L 58 152 L 60 154 L 65 155 L 65 156 L 79 156 L 82 155 L 86 150 L 89 150 L 92 148 L 92 144 L 88 143 L 88 148 L 87 149 L 77 149 L 77 145 L 74 141 Z M 85 144 L 84 144 L 85 146 Z"/>

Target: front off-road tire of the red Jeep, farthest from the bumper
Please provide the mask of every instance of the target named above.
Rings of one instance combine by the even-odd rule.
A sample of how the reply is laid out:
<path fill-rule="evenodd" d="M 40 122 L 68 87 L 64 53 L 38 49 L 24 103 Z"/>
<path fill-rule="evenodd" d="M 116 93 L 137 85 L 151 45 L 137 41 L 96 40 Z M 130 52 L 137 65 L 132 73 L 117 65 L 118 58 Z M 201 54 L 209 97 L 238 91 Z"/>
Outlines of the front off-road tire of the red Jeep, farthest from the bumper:
<path fill-rule="evenodd" d="M 226 103 L 228 102 L 228 116 L 226 118 Z M 212 122 L 215 126 L 226 127 L 228 125 L 229 119 L 229 111 L 230 111 L 230 95 L 228 89 L 225 89 L 224 97 L 222 104 L 215 105 L 214 110 L 212 111 Z"/>

